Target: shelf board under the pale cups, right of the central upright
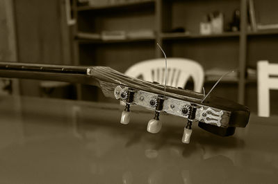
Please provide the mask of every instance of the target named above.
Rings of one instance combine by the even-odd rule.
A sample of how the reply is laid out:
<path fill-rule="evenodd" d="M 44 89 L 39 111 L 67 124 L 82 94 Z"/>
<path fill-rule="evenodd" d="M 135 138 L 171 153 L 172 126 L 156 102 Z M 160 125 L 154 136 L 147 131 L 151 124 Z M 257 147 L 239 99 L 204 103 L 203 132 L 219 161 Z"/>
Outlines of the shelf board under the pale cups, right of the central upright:
<path fill-rule="evenodd" d="M 199 35 L 189 33 L 161 33 L 162 39 L 202 39 L 202 38 L 221 38 L 221 37 L 239 37 L 239 32 L 227 32 L 213 35 Z"/>

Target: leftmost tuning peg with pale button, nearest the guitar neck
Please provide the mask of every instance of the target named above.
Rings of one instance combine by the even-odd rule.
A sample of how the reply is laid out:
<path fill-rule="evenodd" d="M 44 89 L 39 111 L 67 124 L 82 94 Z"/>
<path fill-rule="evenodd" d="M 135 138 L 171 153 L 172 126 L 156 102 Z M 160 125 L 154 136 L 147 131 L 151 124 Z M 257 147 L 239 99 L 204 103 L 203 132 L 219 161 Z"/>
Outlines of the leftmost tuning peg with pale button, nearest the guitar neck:
<path fill-rule="evenodd" d="M 129 120 L 131 117 L 131 111 L 130 111 L 130 104 L 133 102 L 135 91 L 133 89 L 128 89 L 128 91 L 124 91 L 121 93 L 122 100 L 126 100 L 126 107 L 124 108 L 124 111 L 122 111 L 122 117 L 121 117 L 121 123 L 126 125 L 129 124 Z"/>

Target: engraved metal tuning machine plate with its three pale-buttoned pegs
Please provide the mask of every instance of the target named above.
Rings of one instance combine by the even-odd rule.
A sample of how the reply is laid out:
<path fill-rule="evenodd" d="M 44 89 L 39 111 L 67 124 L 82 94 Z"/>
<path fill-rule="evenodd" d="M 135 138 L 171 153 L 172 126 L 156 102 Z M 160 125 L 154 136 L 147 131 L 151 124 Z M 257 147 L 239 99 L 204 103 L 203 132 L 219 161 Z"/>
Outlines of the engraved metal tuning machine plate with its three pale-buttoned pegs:
<path fill-rule="evenodd" d="M 159 116 L 162 111 L 174 116 L 186 118 L 187 123 L 183 129 L 183 136 L 181 138 L 183 143 L 188 144 L 190 142 L 190 136 L 193 131 L 192 124 L 195 121 L 199 122 L 198 126 L 201 128 L 204 126 L 213 127 L 213 133 L 216 128 L 227 129 L 229 127 L 231 112 L 215 107 L 208 107 L 205 104 L 196 104 L 195 102 L 188 102 L 188 100 L 165 97 L 157 93 L 131 89 L 128 86 L 120 85 L 115 87 L 114 95 L 117 100 L 125 103 L 120 120 L 122 124 L 126 125 L 129 123 L 131 118 L 131 104 L 155 111 L 154 118 L 149 120 L 147 124 L 147 131 L 152 134 L 156 134 L 161 130 L 162 122 L 159 120 Z M 208 129 L 208 131 L 212 130 Z M 215 134 L 218 135 L 218 132 Z"/>

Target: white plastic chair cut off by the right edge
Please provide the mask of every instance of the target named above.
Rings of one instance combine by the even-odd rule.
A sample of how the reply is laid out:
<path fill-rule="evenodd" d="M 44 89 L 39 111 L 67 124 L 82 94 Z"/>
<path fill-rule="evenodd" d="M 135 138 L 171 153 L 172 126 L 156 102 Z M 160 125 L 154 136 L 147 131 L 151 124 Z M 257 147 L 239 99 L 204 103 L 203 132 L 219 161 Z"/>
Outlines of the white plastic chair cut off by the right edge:
<path fill-rule="evenodd" d="M 258 116 L 269 117 L 270 89 L 278 89 L 278 64 L 269 64 L 268 61 L 259 61 L 257 62 L 257 71 Z"/>

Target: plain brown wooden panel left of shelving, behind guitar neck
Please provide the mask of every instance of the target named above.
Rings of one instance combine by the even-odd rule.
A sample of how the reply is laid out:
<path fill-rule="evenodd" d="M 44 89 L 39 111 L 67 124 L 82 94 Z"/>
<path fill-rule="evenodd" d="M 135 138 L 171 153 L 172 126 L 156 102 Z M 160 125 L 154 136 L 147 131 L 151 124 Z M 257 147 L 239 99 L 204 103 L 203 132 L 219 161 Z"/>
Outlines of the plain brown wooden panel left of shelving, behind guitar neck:
<path fill-rule="evenodd" d="M 65 49 L 68 33 L 60 0 L 15 0 L 18 61 L 40 64 L 70 64 Z M 66 35 L 64 35 L 66 34 Z M 70 44 L 68 45 L 70 48 Z M 22 95 L 38 96 L 39 82 L 22 80 Z"/>

